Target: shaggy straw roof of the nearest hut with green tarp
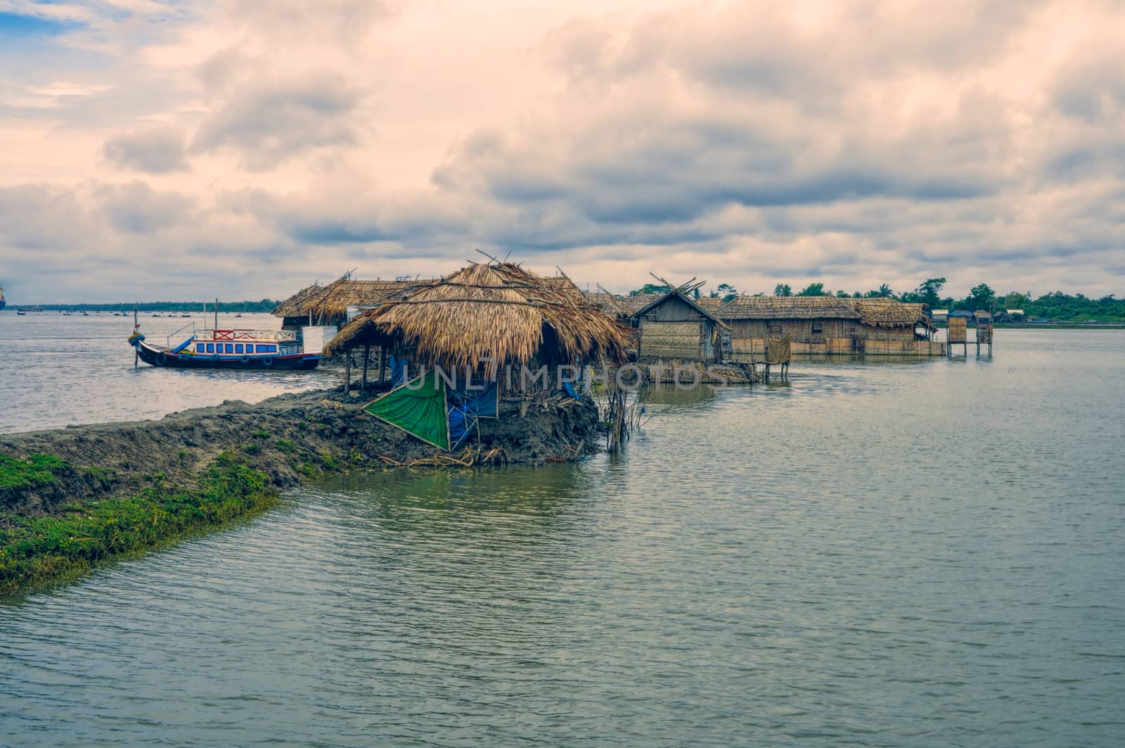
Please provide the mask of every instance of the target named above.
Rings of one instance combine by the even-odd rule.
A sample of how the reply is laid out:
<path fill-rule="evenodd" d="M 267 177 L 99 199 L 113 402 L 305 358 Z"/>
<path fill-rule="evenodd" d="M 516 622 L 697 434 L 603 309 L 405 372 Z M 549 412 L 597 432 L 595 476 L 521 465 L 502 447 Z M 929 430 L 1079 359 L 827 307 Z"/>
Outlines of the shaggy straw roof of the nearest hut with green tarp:
<path fill-rule="evenodd" d="M 570 284 L 573 287 L 573 284 Z M 577 291 L 577 290 L 575 290 Z M 606 315 L 558 280 L 519 265 L 472 264 L 349 322 L 325 348 L 404 345 L 428 365 L 624 360 L 627 340 Z"/>

